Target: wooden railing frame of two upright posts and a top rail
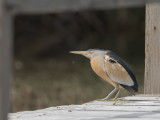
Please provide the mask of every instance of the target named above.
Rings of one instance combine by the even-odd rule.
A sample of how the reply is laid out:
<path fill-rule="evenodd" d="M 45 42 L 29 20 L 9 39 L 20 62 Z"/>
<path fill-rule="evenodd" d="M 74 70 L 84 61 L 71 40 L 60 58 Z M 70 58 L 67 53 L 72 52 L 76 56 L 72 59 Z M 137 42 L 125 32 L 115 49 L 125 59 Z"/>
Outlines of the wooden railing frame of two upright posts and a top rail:
<path fill-rule="evenodd" d="M 139 7 L 146 4 L 144 92 L 160 94 L 160 0 L 0 0 L 0 120 L 7 120 L 12 78 L 13 20 L 17 14 Z M 153 4 L 154 3 L 154 4 Z"/>

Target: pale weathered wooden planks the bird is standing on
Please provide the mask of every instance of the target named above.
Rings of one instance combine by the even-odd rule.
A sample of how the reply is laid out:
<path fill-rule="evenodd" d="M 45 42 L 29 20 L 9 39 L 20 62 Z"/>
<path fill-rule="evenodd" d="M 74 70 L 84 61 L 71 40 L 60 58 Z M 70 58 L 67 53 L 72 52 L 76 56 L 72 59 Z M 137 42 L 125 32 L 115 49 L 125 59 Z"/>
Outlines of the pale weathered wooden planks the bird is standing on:
<path fill-rule="evenodd" d="M 10 113 L 10 120 L 159 120 L 160 95 L 137 95 L 118 101 L 92 101 L 36 111 Z"/>

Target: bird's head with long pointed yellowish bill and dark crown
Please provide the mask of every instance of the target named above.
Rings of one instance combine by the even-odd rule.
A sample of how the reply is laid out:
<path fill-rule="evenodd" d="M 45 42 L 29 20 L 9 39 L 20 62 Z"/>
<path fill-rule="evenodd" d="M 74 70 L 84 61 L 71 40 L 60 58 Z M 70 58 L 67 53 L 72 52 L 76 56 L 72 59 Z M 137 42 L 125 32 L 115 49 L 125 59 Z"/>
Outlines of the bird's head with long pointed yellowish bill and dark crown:
<path fill-rule="evenodd" d="M 83 55 L 89 59 L 94 57 L 95 55 L 99 55 L 102 52 L 104 52 L 104 50 L 98 50 L 98 49 L 89 49 L 86 51 L 70 51 L 70 53 L 80 54 L 80 55 Z"/>

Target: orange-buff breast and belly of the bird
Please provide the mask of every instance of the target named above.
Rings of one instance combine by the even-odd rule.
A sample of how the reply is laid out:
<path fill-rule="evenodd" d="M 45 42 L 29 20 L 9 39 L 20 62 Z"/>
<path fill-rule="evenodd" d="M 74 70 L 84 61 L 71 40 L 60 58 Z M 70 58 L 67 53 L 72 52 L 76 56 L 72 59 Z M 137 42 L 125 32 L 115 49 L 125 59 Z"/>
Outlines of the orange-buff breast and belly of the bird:
<path fill-rule="evenodd" d="M 97 59 L 92 59 L 90 61 L 91 63 L 91 67 L 93 69 L 93 71 L 102 79 L 104 79 L 105 81 L 109 82 L 110 84 L 112 84 L 114 87 L 120 87 L 120 85 L 111 80 L 108 75 L 106 74 L 105 70 L 104 70 L 104 60 L 101 58 L 97 58 Z"/>

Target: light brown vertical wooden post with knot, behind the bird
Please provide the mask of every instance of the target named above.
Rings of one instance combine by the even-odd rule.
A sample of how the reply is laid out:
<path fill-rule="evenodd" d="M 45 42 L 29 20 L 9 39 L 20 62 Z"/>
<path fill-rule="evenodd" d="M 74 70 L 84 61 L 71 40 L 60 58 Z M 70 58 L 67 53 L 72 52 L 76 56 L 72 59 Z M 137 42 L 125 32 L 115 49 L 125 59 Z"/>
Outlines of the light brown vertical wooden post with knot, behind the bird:
<path fill-rule="evenodd" d="M 160 4 L 146 5 L 145 94 L 160 94 Z"/>

